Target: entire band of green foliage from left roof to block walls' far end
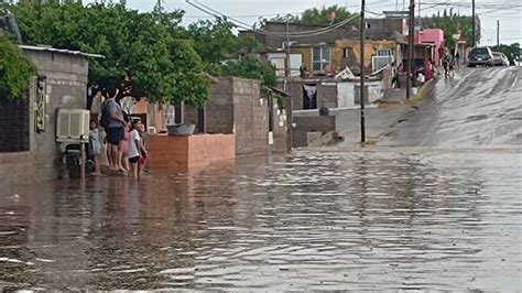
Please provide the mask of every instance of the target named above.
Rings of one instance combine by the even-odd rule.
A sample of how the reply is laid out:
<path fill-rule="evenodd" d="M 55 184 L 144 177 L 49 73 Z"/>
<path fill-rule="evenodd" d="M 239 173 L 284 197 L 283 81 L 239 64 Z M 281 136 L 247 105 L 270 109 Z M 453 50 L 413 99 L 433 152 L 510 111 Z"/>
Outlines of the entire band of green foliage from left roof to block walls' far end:
<path fill-rule="evenodd" d="M 273 67 L 249 55 L 261 44 L 251 35 L 236 36 L 226 19 L 183 28 L 183 11 L 142 13 L 118 2 L 22 0 L 3 6 L 15 14 L 25 43 L 104 55 L 89 59 L 90 83 L 104 86 L 130 77 L 133 96 L 151 101 L 203 106 L 206 73 L 275 85 Z M 249 56 L 227 63 L 243 54 Z"/>

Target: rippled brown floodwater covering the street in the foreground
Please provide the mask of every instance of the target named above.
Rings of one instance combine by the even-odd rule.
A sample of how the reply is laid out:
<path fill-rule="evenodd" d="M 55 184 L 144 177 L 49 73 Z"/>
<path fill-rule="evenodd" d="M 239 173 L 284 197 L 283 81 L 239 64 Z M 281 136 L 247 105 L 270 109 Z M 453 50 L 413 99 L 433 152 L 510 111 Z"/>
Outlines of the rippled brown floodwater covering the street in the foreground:
<path fill-rule="evenodd" d="M 0 289 L 521 290 L 520 149 L 296 151 L 0 191 Z"/>

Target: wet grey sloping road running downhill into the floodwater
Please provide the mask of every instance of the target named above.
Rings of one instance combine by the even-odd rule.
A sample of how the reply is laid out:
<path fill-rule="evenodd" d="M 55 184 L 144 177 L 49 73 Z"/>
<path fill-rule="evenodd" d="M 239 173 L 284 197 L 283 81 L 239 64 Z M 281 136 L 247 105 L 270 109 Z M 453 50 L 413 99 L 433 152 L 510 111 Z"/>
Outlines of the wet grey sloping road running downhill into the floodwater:
<path fill-rule="evenodd" d="M 522 67 L 463 68 L 434 93 L 379 144 L 522 145 Z"/>

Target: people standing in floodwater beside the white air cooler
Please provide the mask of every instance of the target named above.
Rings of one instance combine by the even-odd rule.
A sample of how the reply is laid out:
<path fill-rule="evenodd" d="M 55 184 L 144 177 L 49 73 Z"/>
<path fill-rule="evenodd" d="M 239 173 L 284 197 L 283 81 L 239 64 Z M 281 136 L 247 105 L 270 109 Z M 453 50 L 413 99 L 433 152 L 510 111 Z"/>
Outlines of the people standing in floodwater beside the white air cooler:
<path fill-rule="evenodd" d="M 89 155 L 95 165 L 93 175 L 100 175 L 100 155 L 102 142 L 107 143 L 109 169 L 139 178 L 148 158 L 142 134 L 144 126 L 141 119 L 130 119 L 117 101 L 119 89 L 102 89 L 99 124 L 98 119 L 90 121 Z M 105 130 L 101 139 L 99 126 Z"/>

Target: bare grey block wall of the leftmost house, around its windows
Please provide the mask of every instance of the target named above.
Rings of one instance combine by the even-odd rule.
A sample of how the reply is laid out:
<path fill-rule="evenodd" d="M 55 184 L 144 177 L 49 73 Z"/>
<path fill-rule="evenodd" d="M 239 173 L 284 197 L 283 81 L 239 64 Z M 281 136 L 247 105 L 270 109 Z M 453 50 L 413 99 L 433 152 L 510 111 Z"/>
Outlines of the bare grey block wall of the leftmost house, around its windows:
<path fill-rule="evenodd" d="M 45 131 L 34 132 L 35 85 L 29 94 L 29 135 L 28 152 L 1 153 L 0 174 L 3 182 L 32 183 L 57 178 L 59 167 L 58 145 L 56 143 L 57 109 L 85 109 L 87 104 L 88 61 L 81 55 L 58 52 L 24 50 L 36 65 L 40 75 L 45 75 L 45 94 L 48 95 L 45 115 Z M 0 113 L 1 115 L 1 113 Z"/>

